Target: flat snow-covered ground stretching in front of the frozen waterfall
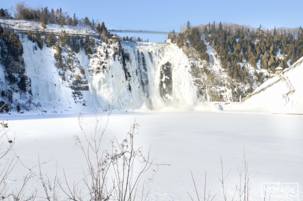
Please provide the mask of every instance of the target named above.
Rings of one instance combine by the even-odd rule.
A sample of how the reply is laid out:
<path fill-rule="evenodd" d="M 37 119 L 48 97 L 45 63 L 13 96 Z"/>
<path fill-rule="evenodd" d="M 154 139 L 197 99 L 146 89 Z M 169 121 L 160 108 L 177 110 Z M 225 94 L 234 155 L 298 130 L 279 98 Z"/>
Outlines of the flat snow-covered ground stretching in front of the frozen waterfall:
<path fill-rule="evenodd" d="M 215 104 L 213 107 L 217 106 Z M 214 200 L 223 200 L 221 183 L 218 180 L 221 177 L 220 153 L 224 173 L 227 174 L 231 170 L 225 180 L 227 197 L 231 200 L 239 179 L 238 168 L 244 168 L 244 149 L 250 172 L 250 200 L 264 200 L 264 196 L 261 196 L 262 183 L 274 183 L 271 185 L 279 185 L 283 189 L 292 185 L 287 183 L 298 183 L 298 197 L 288 197 L 287 194 L 284 198 L 277 198 L 274 196 L 278 195 L 273 192 L 270 200 L 303 199 L 302 115 L 168 112 L 168 110 L 169 108 L 166 108 L 165 112 L 128 112 L 111 115 L 102 140 L 102 148 L 108 149 L 109 140 L 114 135 L 121 140 L 135 120 L 140 124 L 139 134 L 135 137 L 136 144 L 143 146 L 145 155 L 151 145 L 150 154 L 151 157 L 155 157 L 154 163 L 170 164 L 160 166 L 152 181 L 148 180 L 154 173 L 152 170 L 142 175 L 141 182 L 143 180 L 146 182 L 145 193 L 151 190 L 147 200 L 191 200 L 187 194 L 188 192 L 195 196 L 191 171 L 201 200 L 204 194 L 205 171 L 207 171 L 206 191 L 210 190 L 211 196 L 217 193 Z M 195 110 L 198 110 L 198 106 Z M 100 117 L 100 114 L 97 116 Z M 77 117 L 63 114 L 7 118 L 9 136 L 15 133 L 14 149 L 25 166 L 36 165 L 39 155 L 40 161 L 50 160 L 42 165 L 42 171 L 48 173 L 50 177 L 55 176 L 57 166 L 58 177 L 62 181 L 63 168 L 70 183 L 82 179 L 82 168 L 86 169 L 86 163 L 73 139 L 73 135 L 81 136 Z M 106 119 L 106 115 L 104 118 Z M 105 119 L 102 120 L 103 126 Z M 95 115 L 85 115 L 84 122 L 85 131 L 92 131 Z M 8 157 L 12 156 L 13 152 L 10 152 Z M 38 171 L 37 167 L 33 170 Z M 23 175 L 27 172 L 28 170 L 18 162 L 8 177 L 9 189 L 20 188 Z M 281 184 L 275 184 L 278 182 Z M 62 183 L 66 187 L 65 182 Z M 30 180 L 26 188 L 34 187 L 38 188 L 38 194 L 42 193 L 42 186 L 37 179 Z M 140 195 L 141 191 L 138 194 Z M 59 191 L 59 195 L 60 200 L 63 200 L 65 196 L 62 190 Z"/>

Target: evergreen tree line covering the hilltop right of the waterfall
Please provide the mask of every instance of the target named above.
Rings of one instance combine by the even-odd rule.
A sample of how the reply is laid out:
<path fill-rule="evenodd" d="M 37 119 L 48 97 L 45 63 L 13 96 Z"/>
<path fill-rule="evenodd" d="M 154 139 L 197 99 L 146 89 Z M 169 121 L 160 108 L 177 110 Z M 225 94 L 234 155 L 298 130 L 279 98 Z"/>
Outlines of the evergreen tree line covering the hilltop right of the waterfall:
<path fill-rule="evenodd" d="M 175 36 L 171 32 L 169 38 L 179 47 L 189 44 L 198 51 L 201 59 L 208 61 L 205 40 L 218 53 L 221 65 L 228 75 L 238 81 L 245 82 L 247 69 L 244 63 L 257 69 L 275 72 L 277 66 L 287 68 L 303 57 L 303 29 L 274 28 L 264 30 L 260 25 L 251 28 L 237 24 L 208 23 L 188 28 L 183 34 Z M 263 82 L 262 76 L 258 76 Z"/>

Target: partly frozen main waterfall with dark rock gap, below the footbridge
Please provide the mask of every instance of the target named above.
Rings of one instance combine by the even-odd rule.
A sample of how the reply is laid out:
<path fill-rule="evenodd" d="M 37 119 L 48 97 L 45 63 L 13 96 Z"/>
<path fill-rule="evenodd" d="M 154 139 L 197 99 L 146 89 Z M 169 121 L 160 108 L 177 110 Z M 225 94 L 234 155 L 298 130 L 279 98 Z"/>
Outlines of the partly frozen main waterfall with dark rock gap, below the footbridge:
<path fill-rule="evenodd" d="M 133 106 L 160 109 L 197 102 L 196 87 L 186 55 L 173 44 L 122 42 L 129 54 Z"/>

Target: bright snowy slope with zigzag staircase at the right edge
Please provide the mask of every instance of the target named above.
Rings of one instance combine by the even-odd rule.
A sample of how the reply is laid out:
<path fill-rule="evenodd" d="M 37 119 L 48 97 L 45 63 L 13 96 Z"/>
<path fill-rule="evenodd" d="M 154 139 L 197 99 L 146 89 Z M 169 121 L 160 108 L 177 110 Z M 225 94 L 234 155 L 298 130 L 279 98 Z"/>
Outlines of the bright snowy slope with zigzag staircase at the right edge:
<path fill-rule="evenodd" d="M 245 107 L 266 112 L 303 112 L 303 57 L 281 75 L 268 79 L 258 87 L 251 98 L 243 103 Z M 259 92 L 260 91 L 260 92 Z M 258 93 L 259 92 L 259 93 Z"/>

